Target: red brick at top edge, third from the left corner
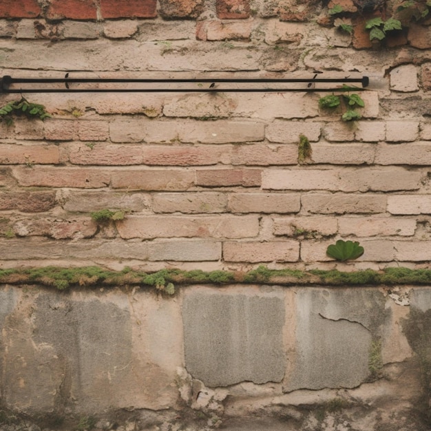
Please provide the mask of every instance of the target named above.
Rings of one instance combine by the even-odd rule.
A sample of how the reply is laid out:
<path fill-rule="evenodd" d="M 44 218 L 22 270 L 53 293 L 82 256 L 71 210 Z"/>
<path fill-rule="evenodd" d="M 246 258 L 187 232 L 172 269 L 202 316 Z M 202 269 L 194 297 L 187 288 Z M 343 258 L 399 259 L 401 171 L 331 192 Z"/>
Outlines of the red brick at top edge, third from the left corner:
<path fill-rule="evenodd" d="M 101 14 L 107 18 L 154 18 L 156 0 L 100 0 Z"/>

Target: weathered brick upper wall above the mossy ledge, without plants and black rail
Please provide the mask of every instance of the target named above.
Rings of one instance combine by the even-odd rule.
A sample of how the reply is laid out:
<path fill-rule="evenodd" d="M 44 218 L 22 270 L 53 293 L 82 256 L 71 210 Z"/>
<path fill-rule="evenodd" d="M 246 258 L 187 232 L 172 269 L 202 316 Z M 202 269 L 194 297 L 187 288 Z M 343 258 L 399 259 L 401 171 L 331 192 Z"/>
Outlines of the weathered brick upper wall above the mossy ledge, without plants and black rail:
<path fill-rule="evenodd" d="M 370 76 L 354 123 L 319 93 L 28 94 L 52 118 L 0 123 L 1 266 L 345 269 L 339 238 L 356 269 L 427 266 L 429 23 L 376 46 L 302 3 L 1 0 L 1 76 Z"/>

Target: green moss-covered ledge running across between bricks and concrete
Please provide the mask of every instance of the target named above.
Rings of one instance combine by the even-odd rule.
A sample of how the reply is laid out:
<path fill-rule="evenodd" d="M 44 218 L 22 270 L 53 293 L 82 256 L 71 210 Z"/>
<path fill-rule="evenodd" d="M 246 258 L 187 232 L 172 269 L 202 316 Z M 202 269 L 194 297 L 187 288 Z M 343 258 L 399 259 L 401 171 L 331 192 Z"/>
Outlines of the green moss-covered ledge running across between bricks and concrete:
<path fill-rule="evenodd" d="M 74 286 L 148 286 L 173 295 L 176 286 L 199 283 L 220 285 L 264 283 L 280 286 L 431 285 L 431 269 L 387 268 L 382 271 L 367 269 L 364 271 L 342 272 L 317 269 L 310 271 L 268 269 L 266 266 L 259 266 L 257 269 L 248 272 L 162 269 L 155 273 L 145 273 L 129 268 L 123 269 L 123 271 L 110 271 L 98 266 L 76 268 L 45 266 L 42 268 L 0 270 L 0 283 L 39 284 L 52 286 L 59 290 Z"/>

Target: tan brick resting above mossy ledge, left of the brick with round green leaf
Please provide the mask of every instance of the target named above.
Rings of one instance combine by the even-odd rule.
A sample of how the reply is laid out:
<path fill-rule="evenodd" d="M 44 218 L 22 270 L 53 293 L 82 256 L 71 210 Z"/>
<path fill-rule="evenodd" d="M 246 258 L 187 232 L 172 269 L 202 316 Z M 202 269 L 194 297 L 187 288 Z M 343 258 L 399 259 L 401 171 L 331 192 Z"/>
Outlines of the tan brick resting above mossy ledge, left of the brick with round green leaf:
<path fill-rule="evenodd" d="M 224 242 L 223 259 L 226 262 L 297 262 L 299 242 Z"/>

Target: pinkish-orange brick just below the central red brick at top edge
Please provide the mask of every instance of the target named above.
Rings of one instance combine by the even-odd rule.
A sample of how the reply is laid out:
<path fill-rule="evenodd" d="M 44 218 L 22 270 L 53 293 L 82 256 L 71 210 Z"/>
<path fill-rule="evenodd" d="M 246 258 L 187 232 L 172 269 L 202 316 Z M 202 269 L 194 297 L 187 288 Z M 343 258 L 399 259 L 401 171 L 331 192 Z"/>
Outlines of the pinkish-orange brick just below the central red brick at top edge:
<path fill-rule="evenodd" d="M 196 39 L 202 41 L 240 41 L 251 36 L 251 21 L 198 21 Z"/>

